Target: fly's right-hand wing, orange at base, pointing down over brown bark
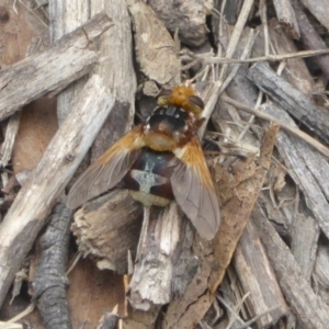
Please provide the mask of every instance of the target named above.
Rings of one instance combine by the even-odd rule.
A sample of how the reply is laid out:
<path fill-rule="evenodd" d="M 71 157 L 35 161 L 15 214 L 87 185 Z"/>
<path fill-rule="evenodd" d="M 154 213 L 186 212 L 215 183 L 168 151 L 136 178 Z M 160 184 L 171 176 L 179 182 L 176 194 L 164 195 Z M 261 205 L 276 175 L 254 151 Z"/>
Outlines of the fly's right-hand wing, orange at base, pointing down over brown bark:
<path fill-rule="evenodd" d="M 201 237 L 212 240 L 219 227 L 219 205 L 200 143 L 193 137 L 177 156 L 171 175 L 172 192 Z"/>

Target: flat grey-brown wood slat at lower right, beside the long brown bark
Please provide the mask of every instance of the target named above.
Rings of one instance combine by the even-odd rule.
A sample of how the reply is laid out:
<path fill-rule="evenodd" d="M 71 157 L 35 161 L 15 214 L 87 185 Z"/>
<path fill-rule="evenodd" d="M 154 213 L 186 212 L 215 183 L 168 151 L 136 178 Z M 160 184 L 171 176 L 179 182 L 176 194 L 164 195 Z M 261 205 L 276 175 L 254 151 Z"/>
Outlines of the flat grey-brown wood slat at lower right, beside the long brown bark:
<path fill-rule="evenodd" d="M 245 294 L 252 296 L 246 300 L 251 318 L 277 307 L 257 321 L 260 328 L 276 324 L 288 306 L 252 223 L 247 224 L 232 260 Z"/>

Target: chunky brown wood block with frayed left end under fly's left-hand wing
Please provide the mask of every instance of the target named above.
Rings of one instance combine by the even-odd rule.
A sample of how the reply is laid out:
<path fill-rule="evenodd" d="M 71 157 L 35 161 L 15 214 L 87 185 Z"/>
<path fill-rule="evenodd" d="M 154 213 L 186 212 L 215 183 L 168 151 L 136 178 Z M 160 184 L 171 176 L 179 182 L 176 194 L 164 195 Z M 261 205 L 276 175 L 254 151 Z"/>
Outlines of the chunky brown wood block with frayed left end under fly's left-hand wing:
<path fill-rule="evenodd" d="M 101 270 L 127 273 L 128 251 L 135 259 L 143 208 L 126 190 L 87 203 L 75 214 L 72 232 L 79 250 L 97 259 Z"/>

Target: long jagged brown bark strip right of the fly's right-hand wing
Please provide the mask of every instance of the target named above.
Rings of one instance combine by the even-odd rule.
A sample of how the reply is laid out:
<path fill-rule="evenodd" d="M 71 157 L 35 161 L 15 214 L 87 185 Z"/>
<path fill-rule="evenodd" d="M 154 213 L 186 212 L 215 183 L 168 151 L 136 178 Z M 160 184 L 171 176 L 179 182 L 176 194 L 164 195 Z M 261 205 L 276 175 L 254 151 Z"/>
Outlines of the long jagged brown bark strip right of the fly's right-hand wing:
<path fill-rule="evenodd" d="M 213 304 L 215 296 L 209 294 L 208 290 L 211 293 L 217 290 L 231 260 L 270 167 L 276 132 L 277 126 L 270 126 L 264 137 L 260 167 L 250 158 L 247 163 L 238 161 L 234 174 L 218 169 L 216 181 L 219 181 L 219 200 L 223 206 L 222 224 L 214 239 L 214 251 L 197 243 L 200 249 L 196 254 L 203 260 L 202 264 L 184 296 L 169 305 L 163 321 L 164 328 L 193 328 Z M 234 186 L 232 181 L 236 183 Z"/>

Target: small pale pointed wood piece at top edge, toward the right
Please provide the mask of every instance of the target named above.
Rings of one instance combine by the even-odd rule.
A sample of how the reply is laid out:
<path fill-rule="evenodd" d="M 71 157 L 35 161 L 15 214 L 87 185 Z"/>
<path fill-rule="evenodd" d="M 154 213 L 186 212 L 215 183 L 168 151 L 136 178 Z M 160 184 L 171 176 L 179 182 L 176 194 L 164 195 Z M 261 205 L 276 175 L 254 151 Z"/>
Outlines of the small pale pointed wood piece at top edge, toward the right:
<path fill-rule="evenodd" d="M 287 32 L 294 37 L 299 38 L 299 29 L 296 15 L 290 0 L 273 0 L 277 21 L 283 24 Z"/>

